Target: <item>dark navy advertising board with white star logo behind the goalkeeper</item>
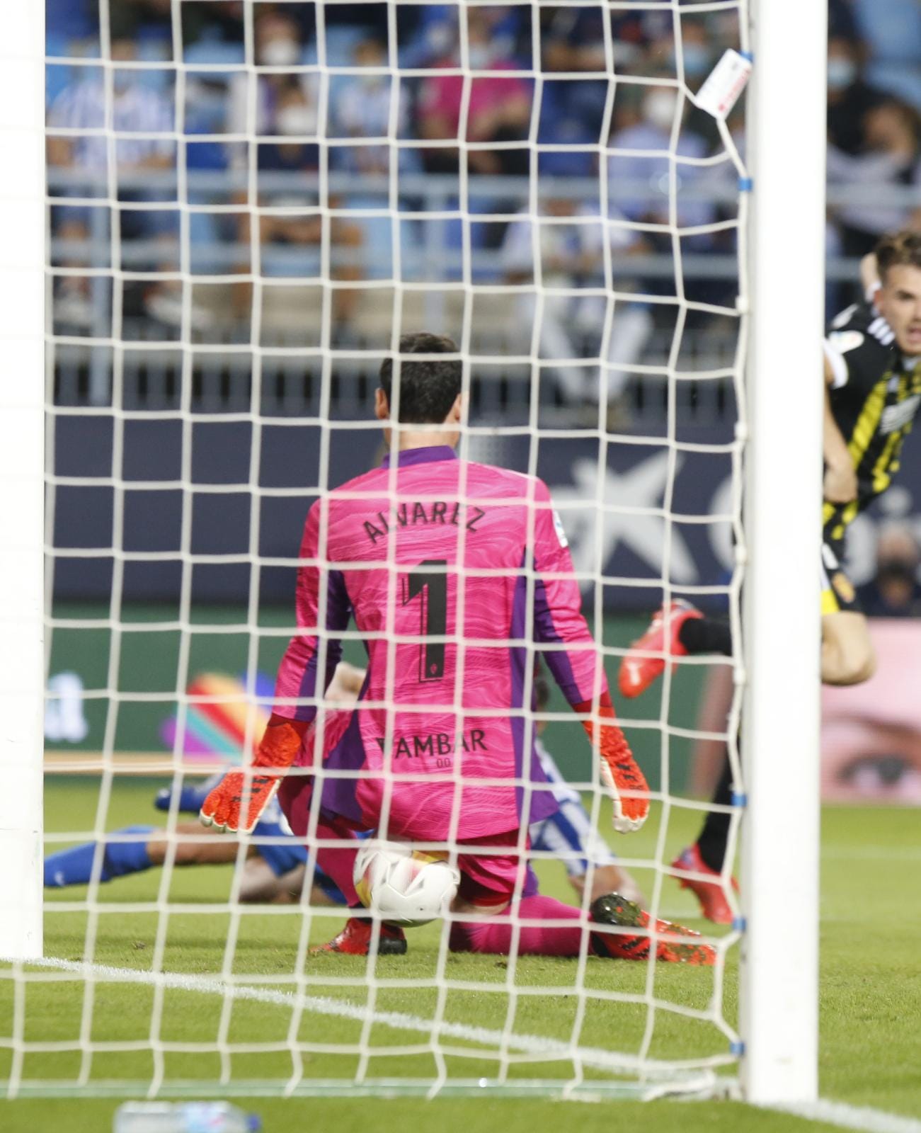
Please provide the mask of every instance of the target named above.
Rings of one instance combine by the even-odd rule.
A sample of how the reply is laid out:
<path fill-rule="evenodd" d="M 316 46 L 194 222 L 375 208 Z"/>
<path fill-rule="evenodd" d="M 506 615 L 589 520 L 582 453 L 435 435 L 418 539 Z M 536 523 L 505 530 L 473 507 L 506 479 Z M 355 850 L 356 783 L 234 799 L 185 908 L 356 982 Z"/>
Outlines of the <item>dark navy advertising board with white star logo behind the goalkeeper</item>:
<path fill-rule="evenodd" d="M 297 555 L 304 519 L 321 483 L 321 431 L 310 425 L 264 425 L 259 438 L 255 550 L 263 557 Z M 716 445 L 691 451 L 684 441 Z M 660 596 L 663 568 L 673 587 L 725 583 L 732 563 L 728 426 L 694 427 L 665 437 L 613 435 L 599 461 L 598 440 L 541 437 L 538 474 L 551 486 L 568 533 L 577 570 L 592 573 L 597 542 L 604 563 L 603 600 L 609 610 L 648 610 Z M 110 417 L 60 416 L 54 436 L 58 477 L 83 477 L 85 485 L 59 484 L 54 504 L 54 595 L 59 599 L 108 599 L 112 585 L 113 421 Z M 253 426 L 212 418 L 189 426 L 190 483 L 181 486 L 182 423 L 133 419 L 123 424 L 122 547 L 156 560 L 129 561 L 125 600 L 174 600 L 181 583 L 182 510 L 190 508 L 193 555 L 229 556 L 193 566 L 194 602 L 246 602 L 250 564 L 234 561 L 250 551 Z M 326 482 L 341 484 L 372 467 L 381 454 L 380 434 L 335 427 L 330 434 Z M 521 471 L 528 468 L 527 436 L 477 443 L 477 459 Z M 782 452 L 778 449 L 778 459 Z M 603 469 L 603 475 L 599 472 Z M 600 479 L 599 479 L 600 477 Z M 671 484 L 671 493 L 670 493 Z M 215 487 L 227 491 L 215 492 Z M 292 495 L 273 495 L 291 489 Z M 910 437 L 898 480 L 885 508 L 853 526 L 851 570 L 855 582 L 872 572 L 875 526 L 882 517 L 909 518 L 921 534 L 921 442 Z M 670 516 L 666 517 L 664 509 Z M 69 557 L 67 548 L 95 548 L 99 555 Z M 664 562 L 667 551 L 667 562 Z M 174 557 L 171 557 L 174 555 Z M 289 603 L 293 566 L 263 565 L 263 602 Z M 586 588 L 590 589 L 587 581 Z"/>

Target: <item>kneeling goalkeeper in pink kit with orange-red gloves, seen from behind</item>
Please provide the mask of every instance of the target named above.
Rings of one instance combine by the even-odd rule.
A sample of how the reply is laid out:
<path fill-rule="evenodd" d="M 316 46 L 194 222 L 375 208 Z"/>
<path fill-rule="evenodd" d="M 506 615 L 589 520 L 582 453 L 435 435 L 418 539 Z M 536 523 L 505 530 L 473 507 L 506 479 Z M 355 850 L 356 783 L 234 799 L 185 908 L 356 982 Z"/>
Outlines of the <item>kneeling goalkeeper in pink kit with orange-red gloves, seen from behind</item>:
<path fill-rule="evenodd" d="M 535 649 L 598 752 L 615 829 L 639 829 L 648 787 L 615 722 L 546 486 L 457 458 L 457 353 L 446 338 L 403 337 L 395 389 L 392 363 L 384 361 L 375 412 L 390 423 L 391 398 L 399 399 L 398 466 L 387 458 L 310 509 L 297 583 L 299 632 L 279 670 L 275 712 L 251 772 L 225 776 L 202 818 L 249 829 L 280 789 L 296 834 L 343 838 L 339 849 L 318 849 L 317 860 L 349 898 L 350 830 L 441 844 L 457 853 L 461 871 L 455 951 L 506 953 L 513 915 L 520 954 L 578 955 L 588 931 L 590 953 L 643 959 L 651 931 L 659 959 L 711 963 L 713 949 L 691 943 L 688 930 L 664 921 L 653 927 L 649 914 L 617 894 L 597 898 L 586 919 L 537 893 L 522 857 L 527 827 L 556 802 L 529 718 Z M 384 435 L 390 444 L 387 425 Z M 351 617 L 368 651 L 365 684 L 353 710 L 322 709 L 317 717 L 341 656 L 338 634 Z M 478 920 L 464 921 L 464 913 Z M 370 928 L 367 915 L 356 915 L 327 948 L 366 953 Z M 382 925 L 378 947 L 403 952 L 402 930 Z"/>

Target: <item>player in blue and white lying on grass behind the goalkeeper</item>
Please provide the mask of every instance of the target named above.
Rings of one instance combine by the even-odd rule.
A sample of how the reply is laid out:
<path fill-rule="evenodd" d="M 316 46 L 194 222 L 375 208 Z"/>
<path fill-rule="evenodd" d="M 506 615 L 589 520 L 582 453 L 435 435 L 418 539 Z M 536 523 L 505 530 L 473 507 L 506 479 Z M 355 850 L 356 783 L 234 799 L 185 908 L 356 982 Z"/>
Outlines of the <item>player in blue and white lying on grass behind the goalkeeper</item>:
<path fill-rule="evenodd" d="M 324 699 L 327 704 L 352 705 L 358 699 L 364 680 L 364 670 L 344 661 L 340 662 Z M 535 679 L 535 695 L 537 709 L 540 712 L 546 708 L 549 699 L 549 688 L 543 676 Z M 538 723 L 538 734 L 543 729 L 544 723 Z M 591 870 L 592 900 L 617 892 L 630 901 L 641 902 L 642 894 L 637 883 L 625 869 L 617 866 L 616 857 L 592 828 L 578 791 L 565 782 L 553 756 L 539 739 L 535 749 L 548 782 L 553 784 L 560 810 L 531 826 L 531 850 L 558 857 L 565 866 L 572 887 L 580 896 Z M 223 776 L 212 776 L 199 785 L 185 785 L 179 792 L 178 811 L 197 815 L 221 777 Z M 157 793 L 154 806 L 159 810 L 169 810 L 172 794 L 171 787 L 164 787 Z M 126 826 L 113 830 L 103 840 L 100 880 L 109 881 L 162 866 L 167 860 L 170 841 L 176 843 L 174 866 L 234 864 L 238 858 L 237 843 L 215 837 L 219 833 L 214 828 L 203 830 L 199 823 L 177 824 L 172 840 L 167 830 L 153 826 Z M 240 880 L 239 900 L 276 904 L 300 901 L 307 876 L 307 850 L 291 834 L 276 799 L 263 811 L 253 835 L 254 842 L 247 851 Z M 272 842 L 266 843 L 262 841 L 264 838 L 272 838 Z M 92 876 L 95 845 L 95 842 L 86 842 L 49 854 L 45 858 L 45 887 L 86 885 Z M 346 897 L 318 866 L 314 867 L 310 903 L 346 904 Z"/>

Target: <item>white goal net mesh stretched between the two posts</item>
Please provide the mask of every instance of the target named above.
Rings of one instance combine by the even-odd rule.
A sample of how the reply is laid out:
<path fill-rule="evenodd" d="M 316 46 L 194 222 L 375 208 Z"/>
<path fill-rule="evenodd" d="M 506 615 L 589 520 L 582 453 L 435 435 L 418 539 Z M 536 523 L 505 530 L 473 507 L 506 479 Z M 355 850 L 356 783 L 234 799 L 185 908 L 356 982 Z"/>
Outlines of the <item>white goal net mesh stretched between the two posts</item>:
<path fill-rule="evenodd" d="M 0 969 L 3 1089 L 725 1089 L 739 922 L 699 919 L 673 862 L 725 749 L 737 915 L 737 655 L 636 701 L 616 681 L 663 603 L 737 628 L 743 114 L 694 96 L 747 50 L 747 5 L 128 7 L 49 27 L 45 851 L 91 850 L 82 881 L 46 876 L 46 959 Z M 615 834 L 562 696 L 519 710 L 586 818 L 585 851 L 532 832 L 541 889 L 587 912 L 626 871 L 714 968 L 603 960 L 587 934 L 518 955 L 520 926 L 509 955 L 452 953 L 447 922 L 406 956 L 317 955 L 347 912 L 314 847 L 285 889 L 283 827 L 218 838 L 187 812 L 259 739 L 307 509 L 380 463 L 377 372 L 419 330 L 459 344 L 460 454 L 548 484 L 653 791 Z"/>

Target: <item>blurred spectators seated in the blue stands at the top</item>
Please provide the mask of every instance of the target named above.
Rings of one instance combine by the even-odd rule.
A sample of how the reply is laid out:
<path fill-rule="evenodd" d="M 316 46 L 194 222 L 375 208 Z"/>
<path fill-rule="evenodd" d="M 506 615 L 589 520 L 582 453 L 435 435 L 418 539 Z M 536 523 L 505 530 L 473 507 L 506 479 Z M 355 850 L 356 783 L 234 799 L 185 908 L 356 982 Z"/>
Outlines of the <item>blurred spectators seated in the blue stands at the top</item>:
<path fill-rule="evenodd" d="M 229 279 L 241 322 L 254 279 L 329 278 L 343 284 L 331 314 L 344 342 L 360 330 L 359 282 L 398 272 L 597 291 L 613 263 L 619 290 L 673 293 L 671 270 L 643 266 L 673 255 L 671 235 L 657 229 L 670 221 L 670 150 L 677 223 L 696 228 L 682 250 L 733 252 L 733 230 L 717 227 L 734 215 L 733 167 L 713 119 L 667 84 L 696 91 L 739 45 L 734 11 L 689 5 L 676 44 L 664 2 L 634 12 L 541 6 L 537 20 L 530 5 L 263 2 L 246 8 L 251 20 L 239 0 L 109 0 L 105 10 L 101 28 L 97 0 L 46 0 L 63 333 L 99 318 L 99 291 L 80 267 L 119 267 L 123 315 L 161 329 L 179 325 L 184 303 L 193 329 L 213 317 L 184 299 L 180 272 Z M 912 221 L 910 194 L 892 203 L 879 190 L 921 182 L 920 60 L 916 0 L 832 0 L 828 173 L 854 191 L 829 208 L 830 254 L 859 256 Z M 606 77 L 612 67 L 617 83 Z M 730 126 L 743 151 L 741 117 Z M 535 176 L 548 218 L 538 233 L 525 218 L 477 222 L 526 211 Z M 407 214 L 398 232 L 394 212 Z M 734 288 L 731 273 L 685 280 L 714 303 L 731 304 Z M 532 296 L 521 303 L 532 315 Z M 580 329 L 590 337 L 598 317 L 597 296 L 549 299 L 541 352 L 578 356 L 574 338 Z M 615 318 L 605 349 L 629 365 L 653 315 L 628 303 Z M 602 346 L 581 349 L 597 357 Z M 566 398 L 582 395 L 578 366 L 561 364 L 558 378 Z"/>

